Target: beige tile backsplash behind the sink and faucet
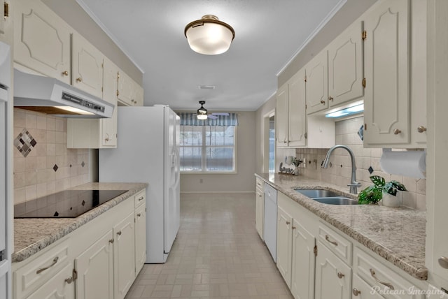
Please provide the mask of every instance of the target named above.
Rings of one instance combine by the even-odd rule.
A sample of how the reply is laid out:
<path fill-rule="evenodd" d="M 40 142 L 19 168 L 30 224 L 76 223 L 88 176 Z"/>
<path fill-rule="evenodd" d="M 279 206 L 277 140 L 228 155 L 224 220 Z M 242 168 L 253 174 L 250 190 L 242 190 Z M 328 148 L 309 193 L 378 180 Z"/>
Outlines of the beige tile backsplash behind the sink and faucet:
<path fill-rule="evenodd" d="M 356 117 L 336 122 L 336 144 L 348 145 L 355 154 L 356 180 L 363 184 L 358 191 L 372 184 L 370 175 L 381 175 L 388 180 L 397 180 L 405 184 L 407 192 L 403 192 L 402 204 L 418 210 L 426 210 L 426 180 L 389 175 L 379 166 L 382 149 L 364 148 L 363 141 L 358 136 L 358 130 L 363 125 L 363 117 Z M 300 173 L 307 177 L 346 187 L 351 177 L 351 161 L 344 149 L 335 149 L 330 157 L 332 166 L 323 169 L 321 162 L 325 159 L 328 149 L 295 149 L 295 156 L 306 159 L 307 167 L 300 168 Z M 372 173 L 372 174 L 371 174 Z"/>

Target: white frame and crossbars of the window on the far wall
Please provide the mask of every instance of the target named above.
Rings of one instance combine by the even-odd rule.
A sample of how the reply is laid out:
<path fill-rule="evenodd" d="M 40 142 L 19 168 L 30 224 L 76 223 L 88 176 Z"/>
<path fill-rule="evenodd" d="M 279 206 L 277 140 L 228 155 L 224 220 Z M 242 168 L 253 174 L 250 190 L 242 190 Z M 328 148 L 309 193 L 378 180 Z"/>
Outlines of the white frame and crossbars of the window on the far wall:
<path fill-rule="evenodd" d="M 189 125 L 187 125 L 189 126 Z M 183 125 L 181 125 L 181 128 Z M 234 127 L 234 137 L 233 137 L 233 170 L 232 171 L 210 171 L 207 170 L 207 147 L 219 147 L 219 148 L 230 148 L 230 146 L 218 145 L 211 146 L 207 145 L 207 126 L 200 126 L 202 128 L 202 145 L 200 146 L 190 146 L 191 148 L 200 147 L 202 149 L 201 152 L 201 168 L 202 170 L 180 170 L 182 175 L 198 175 L 198 174 L 207 174 L 207 175 L 235 175 L 237 174 L 237 126 Z M 212 126 L 209 126 L 212 127 Z M 183 130 L 181 129 L 181 132 Z M 179 145 L 179 149 L 184 147 L 183 145 Z M 180 157 L 179 157 L 180 158 Z M 180 159 L 179 159 L 180 160 Z"/>

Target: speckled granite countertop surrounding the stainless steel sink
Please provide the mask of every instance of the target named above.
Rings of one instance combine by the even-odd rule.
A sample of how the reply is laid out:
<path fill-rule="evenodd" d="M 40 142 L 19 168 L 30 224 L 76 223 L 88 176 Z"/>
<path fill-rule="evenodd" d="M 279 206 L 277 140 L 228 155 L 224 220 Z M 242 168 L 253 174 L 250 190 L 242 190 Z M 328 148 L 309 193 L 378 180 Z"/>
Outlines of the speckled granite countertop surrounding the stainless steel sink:
<path fill-rule="evenodd" d="M 428 279 L 425 212 L 381 205 L 326 205 L 299 194 L 294 188 L 335 189 L 352 198 L 353 194 L 349 194 L 348 188 L 302 176 L 255 175 L 409 275 Z"/>

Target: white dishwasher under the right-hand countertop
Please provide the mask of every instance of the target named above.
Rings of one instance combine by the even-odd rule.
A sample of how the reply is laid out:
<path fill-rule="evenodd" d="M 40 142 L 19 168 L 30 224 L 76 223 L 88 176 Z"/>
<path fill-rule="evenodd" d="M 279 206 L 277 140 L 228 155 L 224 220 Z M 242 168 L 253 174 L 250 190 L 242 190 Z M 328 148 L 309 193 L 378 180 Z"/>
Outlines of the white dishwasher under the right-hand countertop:
<path fill-rule="evenodd" d="M 277 191 L 265 184 L 265 222 L 263 237 L 274 262 L 277 261 Z"/>

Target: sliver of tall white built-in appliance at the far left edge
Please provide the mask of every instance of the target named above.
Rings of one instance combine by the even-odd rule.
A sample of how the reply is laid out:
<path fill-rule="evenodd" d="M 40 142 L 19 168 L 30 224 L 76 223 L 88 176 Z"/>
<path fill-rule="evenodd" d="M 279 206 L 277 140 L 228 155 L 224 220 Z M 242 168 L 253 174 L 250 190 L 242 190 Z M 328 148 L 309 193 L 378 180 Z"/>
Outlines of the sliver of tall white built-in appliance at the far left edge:
<path fill-rule="evenodd" d="M 12 172 L 10 169 L 10 161 L 12 157 L 11 152 L 8 150 L 12 147 L 8 140 L 11 136 L 8 134 L 8 124 L 10 124 L 10 113 L 8 113 L 9 104 L 8 97 L 11 86 L 11 70 L 10 70 L 10 47 L 6 43 L 0 42 L 0 143 L 3 143 L 3 147 L 0 147 L 0 298 L 10 298 L 10 249 L 9 233 L 7 229 L 12 230 L 9 227 L 10 221 L 8 219 L 12 217 L 10 215 L 10 198 L 11 191 L 10 177 Z M 9 158 L 9 159 L 8 159 Z M 8 212 L 6 212 L 8 211 Z"/>

